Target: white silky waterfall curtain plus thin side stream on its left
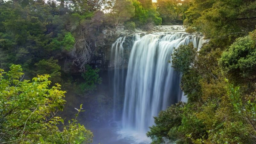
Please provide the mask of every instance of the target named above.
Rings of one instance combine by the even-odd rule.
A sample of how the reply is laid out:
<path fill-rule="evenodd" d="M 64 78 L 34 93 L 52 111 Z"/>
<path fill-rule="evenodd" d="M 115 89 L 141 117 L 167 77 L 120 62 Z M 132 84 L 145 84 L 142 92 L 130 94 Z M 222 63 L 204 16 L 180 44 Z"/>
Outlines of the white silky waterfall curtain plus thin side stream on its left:
<path fill-rule="evenodd" d="M 199 49 L 207 40 L 202 36 L 188 35 L 184 32 L 162 32 L 135 37 L 125 81 L 121 133 L 130 133 L 130 136 L 144 140 L 148 127 L 154 124 L 153 116 L 157 116 L 160 110 L 175 102 L 187 100 L 180 90 L 180 75 L 168 63 L 172 52 L 180 45 L 189 43 L 193 43 Z M 114 48 L 116 51 L 117 64 L 124 56 L 122 43 L 124 39 L 119 38 L 112 46 L 112 51 Z M 118 67 L 115 65 L 115 68 Z M 123 70 L 122 68 L 121 71 Z M 117 88 L 118 79 L 122 79 L 123 75 L 116 71 L 120 69 L 115 70 L 114 76 L 114 87 Z M 118 94 L 114 95 L 114 100 L 117 97 Z"/>

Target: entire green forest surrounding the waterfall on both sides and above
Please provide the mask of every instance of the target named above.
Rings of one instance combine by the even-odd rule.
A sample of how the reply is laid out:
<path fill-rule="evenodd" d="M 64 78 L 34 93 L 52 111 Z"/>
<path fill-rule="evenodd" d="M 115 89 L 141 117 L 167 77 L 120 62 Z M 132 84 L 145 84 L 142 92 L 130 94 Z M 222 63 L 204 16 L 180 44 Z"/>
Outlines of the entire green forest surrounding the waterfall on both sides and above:
<path fill-rule="evenodd" d="M 0 0 L 0 144 L 92 143 L 82 103 L 58 115 L 65 93 L 88 99 L 116 39 L 157 25 L 209 41 L 166 61 L 188 100 L 154 116 L 151 143 L 256 144 L 255 0 Z"/>

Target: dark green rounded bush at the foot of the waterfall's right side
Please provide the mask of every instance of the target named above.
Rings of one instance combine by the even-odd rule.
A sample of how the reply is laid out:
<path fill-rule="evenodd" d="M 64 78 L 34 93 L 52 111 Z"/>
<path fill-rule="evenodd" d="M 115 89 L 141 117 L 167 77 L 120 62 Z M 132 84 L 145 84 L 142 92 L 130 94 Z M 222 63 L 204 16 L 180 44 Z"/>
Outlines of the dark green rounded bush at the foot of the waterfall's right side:
<path fill-rule="evenodd" d="M 158 117 L 154 117 L 156 125 L 149 127 L 147 136 L 153 143 L 165 143 L 167 140 L 190 143 L 187 134 L 194 135 L 196 139 L 200 138 L 201 134 L 206 134 L 206 129 L 203 121 L 194 113 L 194 106 L 180 102 L 161 111 Z"/>

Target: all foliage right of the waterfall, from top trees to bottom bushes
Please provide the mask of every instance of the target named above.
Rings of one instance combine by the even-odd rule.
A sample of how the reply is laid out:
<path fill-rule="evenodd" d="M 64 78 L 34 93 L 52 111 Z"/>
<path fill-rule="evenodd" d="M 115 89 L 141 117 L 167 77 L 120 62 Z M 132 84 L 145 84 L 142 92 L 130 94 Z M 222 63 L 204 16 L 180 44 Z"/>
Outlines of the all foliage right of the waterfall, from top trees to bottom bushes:
<path fill-rule="evenodd" d="M 164 6 L 172 7 L 170 1 Z M 255 6 L 250 0 L 192 1 L 185 12 L 187 32 L 202 32 L 210 42 L 198 53 L 193 45 L 173 53 L 172 67 L 182 72 L 188 102 L 178 121 L 169 109 L 166 119 L 155 118 L 148 132 L 153 142 L 255 143 Z"/>

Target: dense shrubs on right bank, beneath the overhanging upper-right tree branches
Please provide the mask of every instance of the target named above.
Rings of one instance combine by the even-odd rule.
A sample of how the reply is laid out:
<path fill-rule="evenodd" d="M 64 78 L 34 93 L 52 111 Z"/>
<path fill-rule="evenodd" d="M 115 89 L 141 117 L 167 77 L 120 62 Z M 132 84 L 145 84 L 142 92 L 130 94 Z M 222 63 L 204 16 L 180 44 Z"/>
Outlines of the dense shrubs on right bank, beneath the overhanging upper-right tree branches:
<path fill-rule="evenodd" d="M 255 32 L 238 38 L 222 55 L 220 49 L 197 53 L 193 45 L 176 49 L 172 67 L 183 72 L 180 86 L 188 102 L 180 111 L 180 122 L 172 118 L 159 120 L 148 136 L 156 143 L 164 143 L 165 139 L 182 144 L 253 143 L 256 132 L 254 50 Z M 236 80 L 235 84 L 243 91 L 225 80 L 223 74 L 230 82 Z M 172 111 L 165 117 L 176 115 Z M 161 127 L 168 123 L 179 125 Z"/>

